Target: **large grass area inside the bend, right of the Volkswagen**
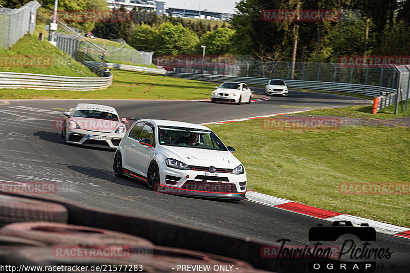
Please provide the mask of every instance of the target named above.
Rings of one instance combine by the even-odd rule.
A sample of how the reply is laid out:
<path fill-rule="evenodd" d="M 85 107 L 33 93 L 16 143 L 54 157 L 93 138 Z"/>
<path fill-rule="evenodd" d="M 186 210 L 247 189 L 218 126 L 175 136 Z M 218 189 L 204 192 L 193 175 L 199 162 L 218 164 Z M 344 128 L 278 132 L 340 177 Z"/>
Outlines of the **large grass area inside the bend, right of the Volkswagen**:
<path fill-rule="evenodd" d="M 324 114 L 315 110 L 303 115 Z M 339 109 L 343 111 L 343 109 Z M 346 110 L 350 111 L 350 110 Z M 410 195 L 343 195 L 338 185 L 408 183 L 410 128 L 262 129 L 261 119 L 209 125 L 237 150 L 249 190 L 410 227 Z"/>

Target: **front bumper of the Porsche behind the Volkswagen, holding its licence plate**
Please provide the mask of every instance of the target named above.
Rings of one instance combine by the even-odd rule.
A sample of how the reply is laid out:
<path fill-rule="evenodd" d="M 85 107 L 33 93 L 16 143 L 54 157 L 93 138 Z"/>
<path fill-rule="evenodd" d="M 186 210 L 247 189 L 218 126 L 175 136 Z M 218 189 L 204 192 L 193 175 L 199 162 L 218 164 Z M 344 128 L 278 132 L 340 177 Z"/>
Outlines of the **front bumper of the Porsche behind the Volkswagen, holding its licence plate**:
<path fill-rule="evenodd" d="M 95 140 L 90 139 L 90 136 L 101 136 L 106 137 L 106 140 Z M 118 148 L 119 142 L 124 138 L 125 133 L 104 133 L 104 132 L 94 132 L 87 130 L 68 130 L 66 132 L 66 142 L 71 144 L 81 144 L 88 146 L 104 147 L 104 148 Z"/>

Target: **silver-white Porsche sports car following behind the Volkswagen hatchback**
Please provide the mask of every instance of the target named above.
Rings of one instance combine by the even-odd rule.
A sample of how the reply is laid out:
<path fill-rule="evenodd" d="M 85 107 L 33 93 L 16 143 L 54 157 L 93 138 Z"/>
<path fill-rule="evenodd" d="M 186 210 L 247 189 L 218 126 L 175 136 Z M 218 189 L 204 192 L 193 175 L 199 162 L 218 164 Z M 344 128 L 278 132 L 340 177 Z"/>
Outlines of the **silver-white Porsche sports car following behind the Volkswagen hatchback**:
<path fill-rule="evenodd" d="M 65 143 L 117 148 L 127 128 L 113 107 L 78 103 L 65 116 L 61 136 Z"/>

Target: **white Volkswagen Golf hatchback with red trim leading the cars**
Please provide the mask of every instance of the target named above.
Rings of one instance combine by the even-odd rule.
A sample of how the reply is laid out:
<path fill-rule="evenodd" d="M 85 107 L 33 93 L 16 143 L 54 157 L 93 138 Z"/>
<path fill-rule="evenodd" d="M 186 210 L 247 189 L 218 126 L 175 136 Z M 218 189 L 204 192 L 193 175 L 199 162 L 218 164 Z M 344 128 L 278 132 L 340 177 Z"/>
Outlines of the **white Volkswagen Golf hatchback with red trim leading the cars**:
<path fill-rule="evenodd" d="M 139 119 L 121 140 L 113 170 L 162 193 L 242 200 L 247 175 L 234 151 L 202 125 Z"/>

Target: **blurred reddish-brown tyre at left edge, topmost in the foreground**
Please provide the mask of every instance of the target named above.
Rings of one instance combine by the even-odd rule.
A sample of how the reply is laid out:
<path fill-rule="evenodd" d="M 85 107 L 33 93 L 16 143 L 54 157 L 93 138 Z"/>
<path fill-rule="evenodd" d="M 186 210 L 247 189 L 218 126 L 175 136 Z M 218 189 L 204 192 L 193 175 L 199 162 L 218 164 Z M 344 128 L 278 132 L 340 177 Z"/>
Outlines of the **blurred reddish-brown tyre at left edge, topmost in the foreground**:
<path fill-rule="evenodd" d="M 66 223 L 63 205 L 30 198 L 0 195 L 0 226 L 13 222 L 51 221 Z"/>

